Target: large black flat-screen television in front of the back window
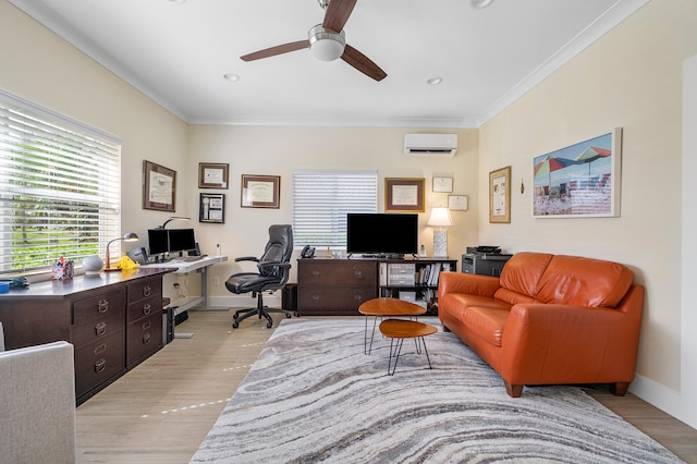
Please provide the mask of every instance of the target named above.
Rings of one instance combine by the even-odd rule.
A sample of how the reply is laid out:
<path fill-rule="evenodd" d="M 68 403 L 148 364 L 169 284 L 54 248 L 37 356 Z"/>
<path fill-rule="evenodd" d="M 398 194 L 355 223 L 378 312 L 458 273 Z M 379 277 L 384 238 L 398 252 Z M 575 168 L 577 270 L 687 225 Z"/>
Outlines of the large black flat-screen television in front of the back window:
<path fill-rule="evenodd" d="M 348 254 L 404 255 L 418 252 L 418 215 L 348 213 Z"/>

